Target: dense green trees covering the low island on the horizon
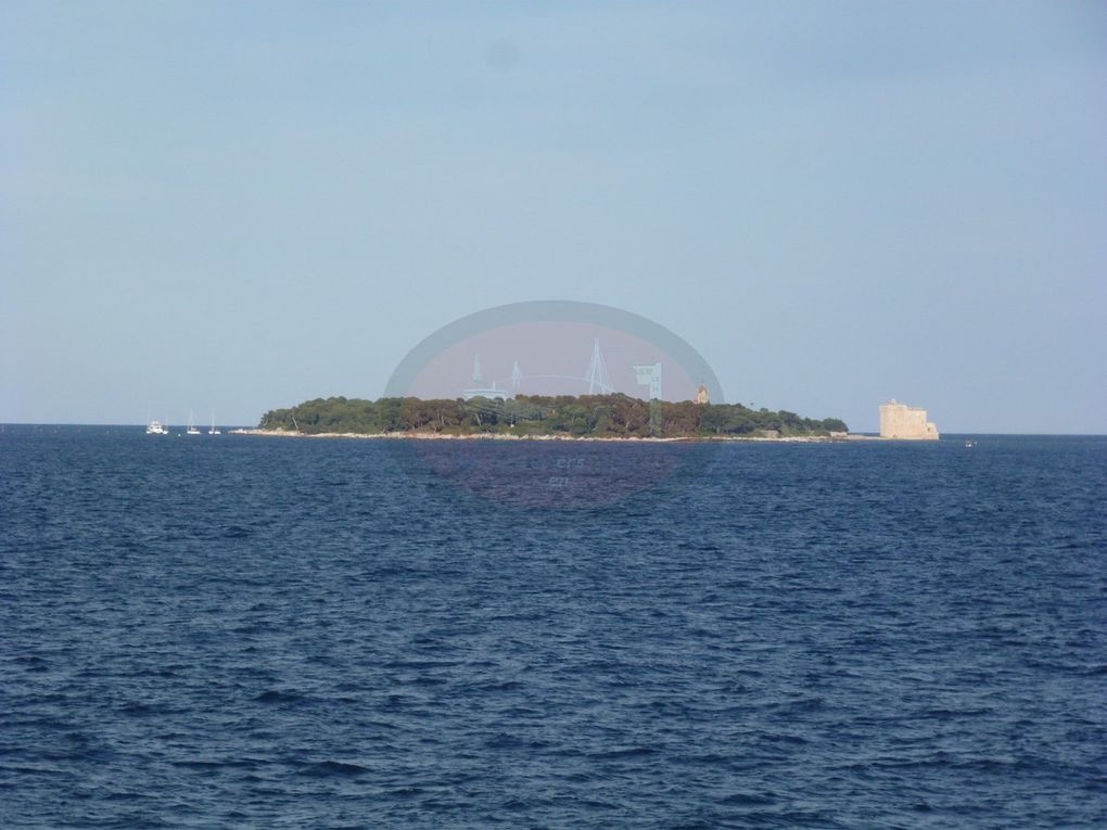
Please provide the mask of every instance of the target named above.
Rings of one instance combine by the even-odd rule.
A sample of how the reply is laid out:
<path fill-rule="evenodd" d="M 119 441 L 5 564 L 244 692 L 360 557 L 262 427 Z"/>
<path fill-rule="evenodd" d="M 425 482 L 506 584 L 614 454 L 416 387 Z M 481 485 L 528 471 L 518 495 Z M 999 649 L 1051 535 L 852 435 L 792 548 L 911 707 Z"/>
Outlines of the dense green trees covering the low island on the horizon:
<path fill-rule="evenodd" d="M 816 421 L 793 412 L 742 404 L 642 401 L 628 395 L 520 395 L 510 401 L 382 397 L 379 401 L 315 398 L 261 417 L 262 429 L 319 433 L 442 433 L 567 435 L 577 437 L 756 437 L 846 432 L 838 418 Z"/>

